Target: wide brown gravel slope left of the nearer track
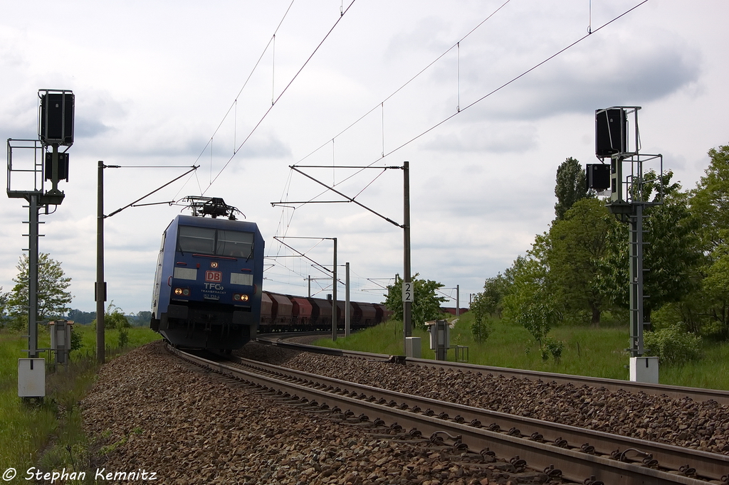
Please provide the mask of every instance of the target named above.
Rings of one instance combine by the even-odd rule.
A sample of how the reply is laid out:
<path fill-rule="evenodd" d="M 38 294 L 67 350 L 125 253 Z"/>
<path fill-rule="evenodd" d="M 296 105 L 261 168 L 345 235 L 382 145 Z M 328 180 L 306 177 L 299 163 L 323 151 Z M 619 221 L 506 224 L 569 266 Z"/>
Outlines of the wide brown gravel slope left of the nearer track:
<path fill-rule="evenodd" d="M 295 357 L 298 358 L 298 357 Z M 488 455 L 344 422 L 198 371 L 161 342 L 107 363 L 82 401 L 106 483 L 538 484 Z M 451 451 L 449 451 L 451 450 Z M 89 472 L 90 475 L 95 470 Z M 142 475 L 144 473 L 144 476 Z M 107 475 L 108 476 L 108 475 Z M 154 477 L 154 480 L 152 480 Z"/>

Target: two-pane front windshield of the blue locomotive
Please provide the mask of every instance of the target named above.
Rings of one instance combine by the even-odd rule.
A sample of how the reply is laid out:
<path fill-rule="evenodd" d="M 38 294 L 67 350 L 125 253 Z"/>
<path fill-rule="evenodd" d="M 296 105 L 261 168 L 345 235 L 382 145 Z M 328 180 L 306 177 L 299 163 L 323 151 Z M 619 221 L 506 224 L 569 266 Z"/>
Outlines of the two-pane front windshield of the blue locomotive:
<path fill-rule="evenodd" d="M 177 250 L 249 259 L 253 254 L 252 232 L 230 231 L 211 227 L 179 226 Z"/>

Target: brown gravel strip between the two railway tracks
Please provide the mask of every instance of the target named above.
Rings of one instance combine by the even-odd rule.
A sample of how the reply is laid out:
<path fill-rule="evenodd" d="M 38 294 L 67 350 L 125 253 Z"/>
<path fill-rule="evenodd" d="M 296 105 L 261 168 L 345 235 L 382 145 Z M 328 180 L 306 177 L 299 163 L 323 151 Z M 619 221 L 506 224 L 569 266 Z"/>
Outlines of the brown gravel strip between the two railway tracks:
<path fill-rule="evenodd" d="M 714 401 L 312 355 L 255 342 L 237 353 L 399 393 L 729 454 L 729 407 Z"/>

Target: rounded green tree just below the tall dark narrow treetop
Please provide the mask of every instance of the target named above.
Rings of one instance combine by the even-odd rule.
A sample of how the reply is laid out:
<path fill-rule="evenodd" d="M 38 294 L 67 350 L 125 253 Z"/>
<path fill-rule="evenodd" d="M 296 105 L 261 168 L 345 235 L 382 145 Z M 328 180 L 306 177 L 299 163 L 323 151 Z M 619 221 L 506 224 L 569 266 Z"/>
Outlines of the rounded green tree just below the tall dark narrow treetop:
<path fill-rule="evenodd" d="M 609 234 L 618 224 L 604 202 L 582 199 L 549 232 L 547 263 L 560 306 L 572 314 L 588 312 L 593 326 L 611 303 L 602 278 L 609 273 L 607 256 L 616 251 Z"/>

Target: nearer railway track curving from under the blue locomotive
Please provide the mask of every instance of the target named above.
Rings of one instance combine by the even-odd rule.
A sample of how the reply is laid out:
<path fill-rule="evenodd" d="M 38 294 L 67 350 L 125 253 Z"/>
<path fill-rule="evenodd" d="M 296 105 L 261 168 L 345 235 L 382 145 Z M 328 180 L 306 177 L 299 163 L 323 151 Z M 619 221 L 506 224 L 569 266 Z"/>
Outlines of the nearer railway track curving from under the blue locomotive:
<path fill-rule="evenodd" d="M 470 406 L 394 393 L 253 360 L 219 362 L 171 349 L 184 360 L 320 409 L 443 438 L 462 452 L 512 457 L 579 484 L 729 483 L 729 457 Z"/>

